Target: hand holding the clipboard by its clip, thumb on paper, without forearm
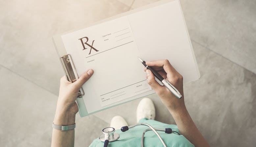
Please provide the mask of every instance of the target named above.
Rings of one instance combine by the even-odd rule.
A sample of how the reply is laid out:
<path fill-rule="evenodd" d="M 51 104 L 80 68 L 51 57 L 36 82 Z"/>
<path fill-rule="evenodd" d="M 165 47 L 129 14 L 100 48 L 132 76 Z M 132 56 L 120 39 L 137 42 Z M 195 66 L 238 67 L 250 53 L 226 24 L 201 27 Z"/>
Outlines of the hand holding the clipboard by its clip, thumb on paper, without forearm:
<path fill-rule="evenodd" d="M 92 74 L 93 70 L 89 69 L 74 83 L 67 81 L 65 76 L 61 78 L 54 124 L 72 125 L 75 123 L 75 114 L 78 112 L 78 106 L 75 101 L 78 91 L 90 79 Z"/>

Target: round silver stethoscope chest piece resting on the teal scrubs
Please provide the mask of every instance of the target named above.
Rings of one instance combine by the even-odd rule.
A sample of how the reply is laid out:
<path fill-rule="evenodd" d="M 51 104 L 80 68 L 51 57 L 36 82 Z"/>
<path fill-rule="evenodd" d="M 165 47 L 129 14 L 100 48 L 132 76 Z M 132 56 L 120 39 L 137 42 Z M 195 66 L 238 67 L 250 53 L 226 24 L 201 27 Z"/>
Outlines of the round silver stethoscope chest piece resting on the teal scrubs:
<path fill-rule="evenodd" d="M 115 128 L 108 127 L 102 130 L 102 135 L 99 136 L 99 139 L 102 142 L 104 142 L 106 139 L 108 139 L 109 142 L 113 142 L 117 140 L 119 137 L 120 135 L 118 133 L 115 133 Z"/>

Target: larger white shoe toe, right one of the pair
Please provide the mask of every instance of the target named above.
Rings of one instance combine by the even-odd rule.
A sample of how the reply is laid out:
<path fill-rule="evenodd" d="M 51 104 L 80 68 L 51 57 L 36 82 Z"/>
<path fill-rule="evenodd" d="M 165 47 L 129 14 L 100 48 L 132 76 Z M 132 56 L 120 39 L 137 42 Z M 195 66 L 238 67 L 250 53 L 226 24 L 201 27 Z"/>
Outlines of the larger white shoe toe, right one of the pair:
<path fill-rule="evenodd" d="M 137 122 L 142 118 L 155 119 L 155 107 L 151 99 L 143 98 L 137 107 Z"/>

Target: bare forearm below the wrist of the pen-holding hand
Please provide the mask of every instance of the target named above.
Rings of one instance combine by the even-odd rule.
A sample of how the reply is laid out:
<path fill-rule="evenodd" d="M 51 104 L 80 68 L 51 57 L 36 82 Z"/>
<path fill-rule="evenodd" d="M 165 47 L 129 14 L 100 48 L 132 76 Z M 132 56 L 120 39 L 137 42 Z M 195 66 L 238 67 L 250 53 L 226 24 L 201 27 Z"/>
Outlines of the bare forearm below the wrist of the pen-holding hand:
<path fill-rule="evenodd" d="M 209 144 L 195 126 L 186 107 L 182 110 L 170 111 L 170 113 L 173 116 L 181 135 L 185 136 L 195 147 L 209 147 Z"/>

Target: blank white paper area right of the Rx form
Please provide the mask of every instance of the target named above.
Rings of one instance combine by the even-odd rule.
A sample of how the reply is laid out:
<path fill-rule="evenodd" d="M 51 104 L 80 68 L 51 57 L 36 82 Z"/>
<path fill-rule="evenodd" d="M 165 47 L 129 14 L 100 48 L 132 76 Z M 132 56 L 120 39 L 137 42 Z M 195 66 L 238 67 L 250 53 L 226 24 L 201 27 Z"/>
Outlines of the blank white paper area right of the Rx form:
<path fill-rule="evenodd" d="M 128 18 L 143 60 L 168 59 L 184 83 L 200 77 L 178 0 L 130 14 Z"/>

